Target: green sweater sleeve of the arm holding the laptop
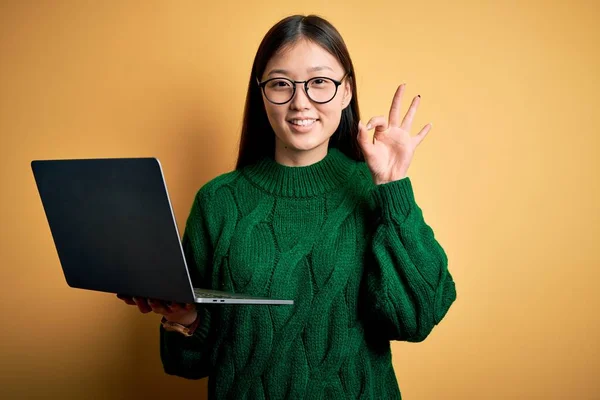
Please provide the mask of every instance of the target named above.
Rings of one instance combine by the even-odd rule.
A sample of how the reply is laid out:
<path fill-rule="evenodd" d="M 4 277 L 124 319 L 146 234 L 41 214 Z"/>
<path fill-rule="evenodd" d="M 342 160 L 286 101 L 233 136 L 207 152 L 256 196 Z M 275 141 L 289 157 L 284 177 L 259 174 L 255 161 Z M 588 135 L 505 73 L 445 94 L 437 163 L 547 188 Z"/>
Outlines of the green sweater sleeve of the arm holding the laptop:
<path fill-rule="evenodd" d="M 205 196 L 201 193 L 194 199 L 182 245 L 194 287 L 210 287 L 212 245 Z M 200 379 L 210 373 L 211 307 L 197 305 L 196 309 L 200 321 L 192 336 L 165 331 L 162 325 L 159 328 L 160 358 L 167 374 Z"/>

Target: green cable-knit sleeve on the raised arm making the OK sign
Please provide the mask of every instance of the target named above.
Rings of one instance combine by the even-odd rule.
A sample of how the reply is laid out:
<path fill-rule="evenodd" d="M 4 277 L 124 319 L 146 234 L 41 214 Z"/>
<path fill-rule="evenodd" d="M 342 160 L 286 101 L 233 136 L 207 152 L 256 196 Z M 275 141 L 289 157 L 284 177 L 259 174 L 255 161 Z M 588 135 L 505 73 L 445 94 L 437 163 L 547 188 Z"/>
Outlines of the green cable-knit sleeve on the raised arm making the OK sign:
<path fill-rule="evenodd" d="M 446 253 L 409 178 L 376 186 L 372 201 L 378 218 L 366 266 L 369 315 L 388 340 L 422 341 L 456 299 Z"/>

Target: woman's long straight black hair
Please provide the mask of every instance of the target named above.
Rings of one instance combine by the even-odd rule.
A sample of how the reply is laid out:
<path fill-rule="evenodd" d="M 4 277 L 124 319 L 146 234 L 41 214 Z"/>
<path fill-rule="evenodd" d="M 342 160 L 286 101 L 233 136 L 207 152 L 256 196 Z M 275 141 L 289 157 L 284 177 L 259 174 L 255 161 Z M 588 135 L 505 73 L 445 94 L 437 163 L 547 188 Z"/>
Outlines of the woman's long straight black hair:
<path fill-rule="evenodd" d="M 342 111 L 340 124 L 329 140 L 329 147 L 336 147 L 348 157 L 362 161 L 363 155 L 357 142 L 358 97 L 354 67 L 346 44 L 340 33 L 327 20 L 316 15 L 292 15 L 275 24 L 265 35 L 252 64 L 240 148 L 236 169 L 254 164 L 264 157 L 275 155 L 275 132 L 267 118 L 261 89 L 256 79 L 265 72 L 267 63 L 279 50 L 307 39 L 332 54 L 348 74 L 352 86 L 350 104 Z"/>

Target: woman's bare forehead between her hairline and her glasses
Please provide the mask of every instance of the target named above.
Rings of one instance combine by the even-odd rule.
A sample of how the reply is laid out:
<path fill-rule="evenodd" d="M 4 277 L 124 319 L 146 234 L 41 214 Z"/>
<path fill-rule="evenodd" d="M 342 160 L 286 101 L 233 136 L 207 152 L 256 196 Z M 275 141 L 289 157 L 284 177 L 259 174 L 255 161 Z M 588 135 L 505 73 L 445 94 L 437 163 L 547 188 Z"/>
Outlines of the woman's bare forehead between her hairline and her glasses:
<path fill-rule="evenodd" d="M 300 40 L 285 47 L 271 57 L 267 63 L 265 74 L 271 70 L 285 70 L 289 75 L 303 75 L 315 67 L 323 68 L 324 72 L 342 72 L 339 61 L 323 47 L 308 40 Z"/>

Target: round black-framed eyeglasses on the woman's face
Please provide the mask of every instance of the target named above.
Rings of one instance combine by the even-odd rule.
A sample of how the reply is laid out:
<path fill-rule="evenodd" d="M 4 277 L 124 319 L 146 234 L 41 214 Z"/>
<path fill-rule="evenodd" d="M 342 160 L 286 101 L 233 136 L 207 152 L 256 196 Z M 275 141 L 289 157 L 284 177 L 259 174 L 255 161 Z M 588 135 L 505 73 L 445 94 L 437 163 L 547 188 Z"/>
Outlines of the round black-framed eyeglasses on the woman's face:
<path fill-rule="evenodd" d="M 307 81 L 294 81 L 288 78 L 271 78 L 266 81 L 256 82 L 262 89 L 265 97 L 273 104 L 285 104 L 294 98 L 296 94 L 296 84 L 304 84 L 304 93 L 308 98 L 318 104 L 329 103 L 337 94 L 338 87 L 348 76 L 346 73 L 342 79 L 336 81 L 324 76 L 316 76 Z"/>

